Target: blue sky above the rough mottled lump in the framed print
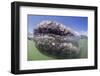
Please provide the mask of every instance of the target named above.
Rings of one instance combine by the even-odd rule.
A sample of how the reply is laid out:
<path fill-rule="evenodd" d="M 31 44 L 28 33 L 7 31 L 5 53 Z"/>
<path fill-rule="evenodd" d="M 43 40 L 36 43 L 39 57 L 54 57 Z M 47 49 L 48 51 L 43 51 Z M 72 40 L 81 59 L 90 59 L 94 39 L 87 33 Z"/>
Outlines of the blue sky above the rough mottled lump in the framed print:
<path fill-rule="evenodd" d="M 77 31 L 79 34 L 87 35 L 88 17 L 79 16 L 50 16 L 50 15 L 28 15 L 28 32 L 32 33 L 37 24 L 43 20 L 53 20 Z"/>

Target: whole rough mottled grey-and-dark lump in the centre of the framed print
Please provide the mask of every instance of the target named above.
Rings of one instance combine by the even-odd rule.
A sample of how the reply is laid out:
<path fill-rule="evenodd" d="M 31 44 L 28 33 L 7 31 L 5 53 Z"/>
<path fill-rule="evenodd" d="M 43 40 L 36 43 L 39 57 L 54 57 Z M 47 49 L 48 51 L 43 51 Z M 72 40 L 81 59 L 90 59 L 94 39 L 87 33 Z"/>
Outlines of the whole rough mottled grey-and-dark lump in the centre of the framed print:
<path fill-rule="evenodd" d="M 42 21 L 33 30 L 37 49 L 55 58 L 77 58 L 79 54 L 79 36 L 69 27 L 56 21 Z"/>

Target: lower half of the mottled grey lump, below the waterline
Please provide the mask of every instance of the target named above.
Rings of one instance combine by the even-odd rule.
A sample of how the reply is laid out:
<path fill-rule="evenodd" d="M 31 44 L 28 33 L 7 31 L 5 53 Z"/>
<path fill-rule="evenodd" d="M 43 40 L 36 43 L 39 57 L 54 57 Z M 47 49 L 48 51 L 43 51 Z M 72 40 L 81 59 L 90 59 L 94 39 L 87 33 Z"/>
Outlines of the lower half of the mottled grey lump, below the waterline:
<path fill-rule="evenodd" d="M 74 33 L 72 34 L 62 36 L 40 33 L 34 34 L 33 40 L 38 50 L 47 56 L 54 58 L 77 58 L 80 52 L 79 37 L 74 35 Z"/>

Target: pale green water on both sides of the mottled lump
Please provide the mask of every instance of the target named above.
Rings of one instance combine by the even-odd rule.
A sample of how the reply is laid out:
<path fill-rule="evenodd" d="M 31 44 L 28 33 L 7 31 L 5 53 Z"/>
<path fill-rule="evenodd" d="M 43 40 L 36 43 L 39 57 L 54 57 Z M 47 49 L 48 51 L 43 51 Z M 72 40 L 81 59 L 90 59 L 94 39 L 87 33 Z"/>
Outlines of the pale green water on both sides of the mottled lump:
<path fill-rule="evenodd" d="M 87 46 L 87 38 L 80 39 L 79 40 L 79 47 L 80 47 L 80 53 L 79 57 L 77 58 L 87 58 L 88 57 L 88 46 Z M 27 60 L 55 60 L 55 57 L 47 56 L 45 54 L 42 54 L 36 47 L 35 42 L 33 40 L 28 40 L 28 51 L 27 51 Z M 75 59 L 77 59 L 75 58 Z M 66 58 L 65 58 L 66 59 Z"/>

